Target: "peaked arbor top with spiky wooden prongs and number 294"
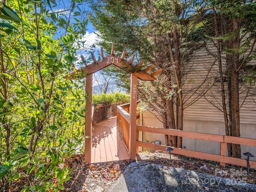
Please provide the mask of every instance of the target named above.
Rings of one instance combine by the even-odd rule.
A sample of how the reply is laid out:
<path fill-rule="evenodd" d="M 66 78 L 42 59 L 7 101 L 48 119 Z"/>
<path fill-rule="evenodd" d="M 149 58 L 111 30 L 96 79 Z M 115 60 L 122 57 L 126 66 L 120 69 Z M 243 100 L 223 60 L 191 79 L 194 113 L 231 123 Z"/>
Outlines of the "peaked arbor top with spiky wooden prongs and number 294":
<path fill-rule="evenodd" d="M 101 48 L 101 56 L 102 56 L 101 61 L 96 61 L 96 58 L 95 58 L 93 52 L 90 52 L 93 62 L 89 65 L 86 65 L 85 67 L 78 69 L 76 72 L 72 72 L 72 73 L 64 76 L 64 78 L 77 79 L 77 78 L 79 78 L 79 73 L 81 73 L 81 72 L 83 72 L 83 74 L 92 74 L 92 73 L 97 72 L 103 68 L 106 68 L 107 66 L 110 66 L 112 64 L 122 70 L 125 70 L 129 73 L 134 74 L 140 80 L 148 80 L 148 81 L 156 80 L 156 78 L 154 76 L 156 76 L 162 72 L 162 69 L 159 69 L 159 70 L 156 70 L 155 72 L 152 72 L 151 74 L 148 74 L 148 71 L 150 71 L 153 68 L 153 66 L 149 66 L 148 68 L 141 70 L 139 67 L 142 66 L 144 60 L 140 61 L 138 64 L 136 64 L 136 66 L 134 66 L 134 65 L 132 65 L 134 56 L 132 56 L 132 58 L 127 62 L 124 60 L 126 51 L 124 50 L 121 57 L 118 57 L 118 56 L 114 55 L 114 47 L 115 47 L 115 44 L 112 43 L 111 54 L 106 57 L 104 57 L 103 48 Z"/>

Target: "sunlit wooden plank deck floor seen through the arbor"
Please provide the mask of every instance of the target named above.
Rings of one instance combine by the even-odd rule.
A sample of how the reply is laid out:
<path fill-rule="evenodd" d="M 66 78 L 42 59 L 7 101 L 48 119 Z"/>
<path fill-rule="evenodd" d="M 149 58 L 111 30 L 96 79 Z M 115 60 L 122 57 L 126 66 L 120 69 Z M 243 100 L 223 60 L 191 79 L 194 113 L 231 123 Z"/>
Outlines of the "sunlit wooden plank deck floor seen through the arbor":
<path fill-rule="evenodd" d="M 92 163 L 128 160 L 127 147 L 116 129 L 116 117 L 92 128 Z"/>

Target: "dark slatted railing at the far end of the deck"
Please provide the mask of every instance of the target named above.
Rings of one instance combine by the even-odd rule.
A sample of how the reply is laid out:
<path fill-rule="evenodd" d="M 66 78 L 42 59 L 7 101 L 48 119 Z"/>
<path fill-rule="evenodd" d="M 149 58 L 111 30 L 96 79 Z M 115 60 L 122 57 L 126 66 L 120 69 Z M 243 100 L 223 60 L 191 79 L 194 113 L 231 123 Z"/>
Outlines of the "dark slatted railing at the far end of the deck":
<path fill-rule="evenodd" d="M 94 106 L 92 124 L 94 125 L 103 120 L 115 117 L 117 114 L 117 106 L 120 104 L 122 104 L 122 102 L 117 102 L 110 105 L 99 104 Z"/>

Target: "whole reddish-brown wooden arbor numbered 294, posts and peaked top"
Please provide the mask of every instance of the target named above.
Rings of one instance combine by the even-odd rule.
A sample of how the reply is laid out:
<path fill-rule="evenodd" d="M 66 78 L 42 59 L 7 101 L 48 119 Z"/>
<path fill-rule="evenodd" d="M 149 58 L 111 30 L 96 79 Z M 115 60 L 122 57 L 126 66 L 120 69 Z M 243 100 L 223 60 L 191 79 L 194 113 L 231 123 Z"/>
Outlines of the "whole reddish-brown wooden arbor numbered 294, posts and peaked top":
<path fill-rule="evenodd" d="M 149 80 L 153 81 L 156 80 L 154 76 L 160 74 L 162 72 L 162 69 L 157 70 L 151 74 L 148 74 L 147 72 L 152 69 L 153 66 L 149 66 L 148 68 L 144 70 L 140 70 L 138 67 L 140 67 L 144 60 L 136 64 L 136 66 L 132 65 L 131 63 L 134 60 L 134 56 L 127 62 L 124 60 L 125 56 L 125 50 L 122 53 L 121 57 L 118 57 L 114 55 L 114 43 L 112 43 L 112 50 L 111 54 L 104 57 L 103 54 L 103 48 L 101 48 L 101 61 L 96 61 L 94 54 L 91 52 L 92 57 L 92 63 L 89 65 L 86 65 L 85 67 L 80 68 L 76 72 L 72 72 L 64 78 L 72 78 L 77 79 L 80 78 L 79 74 L 81 72 L 86 75 L 86 108 L 88 110 L 86 111 L 85 118 L 86 118 L 86 124 L 85 124 L 85 135 L 88 136 L 88 138 L 85 139 L 85 152 L 84 152 L 84 160 L 85 162 L 91 162 L 91 146 L 92 146 L 92 74 L 94 72 L 97 72 L 103 68 L 106 68 L 107 66 L 110 66 L 111 64 L 117 66 L 118 68 L 127 71 L 131 74 L 131 87 L 130 87 L 130 158 L 131 160 L 135 160 L 136 155 L 136 112 L 137 112 L 137 86 L 138 86 L 138 78 L 140 80 Z"/>

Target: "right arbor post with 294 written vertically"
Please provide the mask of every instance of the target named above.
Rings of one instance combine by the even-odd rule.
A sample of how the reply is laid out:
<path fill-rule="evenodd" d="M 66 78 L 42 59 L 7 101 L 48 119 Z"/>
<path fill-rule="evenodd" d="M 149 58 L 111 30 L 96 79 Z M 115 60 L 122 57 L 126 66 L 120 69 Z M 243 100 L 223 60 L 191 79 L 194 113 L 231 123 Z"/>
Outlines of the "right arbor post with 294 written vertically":
<path fill-rule="evenodd" d="M 129 153 L 131 160 L 136 159 L 136 113 L 137 113 L 137 86 L 138 77 L 131 74 L 130 90 L 130 134 L 129 134 Z"/>

